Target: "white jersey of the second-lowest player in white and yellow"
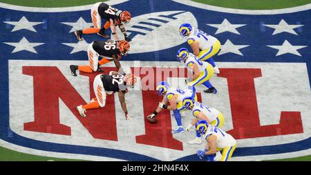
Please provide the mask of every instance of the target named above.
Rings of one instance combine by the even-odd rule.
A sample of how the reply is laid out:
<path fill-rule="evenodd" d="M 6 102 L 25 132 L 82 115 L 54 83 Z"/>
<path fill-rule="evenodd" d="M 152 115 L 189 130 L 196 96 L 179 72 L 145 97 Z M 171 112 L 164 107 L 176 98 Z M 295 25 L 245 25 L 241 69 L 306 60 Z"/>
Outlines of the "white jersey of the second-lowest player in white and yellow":
<path fill-rule="evenodd" d="M 192 116 L 198 117 L 199 112 L 203 112 L 205 116 L 207 116 L 207 119 L 209 119 L 210 122 L 216 120 L 217 116 L 220 114 L 220 112 L 214 108 L 209 108 L 206 105 L 202 103 L 194 103 L 194 108 L 192 108 Z"/>

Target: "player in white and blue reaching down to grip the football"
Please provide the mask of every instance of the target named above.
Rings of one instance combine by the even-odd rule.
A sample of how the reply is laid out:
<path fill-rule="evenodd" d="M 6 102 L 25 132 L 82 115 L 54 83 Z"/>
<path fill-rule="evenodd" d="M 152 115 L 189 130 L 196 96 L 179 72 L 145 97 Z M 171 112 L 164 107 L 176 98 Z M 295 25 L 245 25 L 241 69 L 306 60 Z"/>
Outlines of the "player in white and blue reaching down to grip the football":
<path fill-rule="evenodd" d="M 195 101 L 197 101 L 196 92 L 193 87 L 188 87 L 186 90 L 180 90 L 176 88 L 169 87 L 169 83 L 166 81 L 161 81 L 158 83 L 156 90 L 158 94 L 163 96 L 162 101 L 159 103 L 157 109 L 153 114 L 147 116 L 147 118 L 154 118 L 156 115 L 162 110 L 172 110 L 173 115 L 176 119 L 176 123 L 178 127 L 175 130 L 172 130 L 172 133 L 180 133 L 185 132 L 184 128 L 182 127 L 182 119 L 180 112 L 185 110 L 185 107 L 182 105 L 182 99 L 191 96 Z M 167 105 L 169 102 L 170 105 Z"/>

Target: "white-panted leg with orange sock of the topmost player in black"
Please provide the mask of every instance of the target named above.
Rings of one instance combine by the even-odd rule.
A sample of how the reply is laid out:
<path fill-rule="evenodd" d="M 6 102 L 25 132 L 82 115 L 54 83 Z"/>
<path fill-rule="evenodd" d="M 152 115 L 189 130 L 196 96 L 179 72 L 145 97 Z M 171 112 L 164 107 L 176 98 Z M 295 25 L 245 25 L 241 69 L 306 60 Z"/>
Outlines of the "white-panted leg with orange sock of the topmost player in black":
<path fill-rule="evenodd" d="M 100 3 L 95 3 L 91 8 L 91 18 L 93 21 L 93 28 L 85 28 L 83 30 L 75 30 L 75 36 L 78 40 L 82 40 L 82 34 L 94 34 L 100 32 L 100 28 L 102 25 L 102 18 L 100 17 L 100 13 L 98 12 L 98 6 Z"/>

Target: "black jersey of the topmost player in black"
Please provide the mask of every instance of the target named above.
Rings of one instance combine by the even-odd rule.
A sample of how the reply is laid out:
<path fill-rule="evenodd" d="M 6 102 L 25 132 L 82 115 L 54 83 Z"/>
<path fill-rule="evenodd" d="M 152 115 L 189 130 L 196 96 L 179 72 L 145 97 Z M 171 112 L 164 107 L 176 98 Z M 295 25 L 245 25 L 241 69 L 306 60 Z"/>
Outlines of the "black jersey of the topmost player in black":
<path fill-rule="evenodd" d="M 122 10 L 113 8 L 106 3 L 101 3 L 100 6 L 98 6 L 98 13 L 100 14 L 100 17 L 106 19 L 107 21 L 109 21 L 110 19 L 112 19 L 113 21 L 120 21 L 121 12 Z"/>

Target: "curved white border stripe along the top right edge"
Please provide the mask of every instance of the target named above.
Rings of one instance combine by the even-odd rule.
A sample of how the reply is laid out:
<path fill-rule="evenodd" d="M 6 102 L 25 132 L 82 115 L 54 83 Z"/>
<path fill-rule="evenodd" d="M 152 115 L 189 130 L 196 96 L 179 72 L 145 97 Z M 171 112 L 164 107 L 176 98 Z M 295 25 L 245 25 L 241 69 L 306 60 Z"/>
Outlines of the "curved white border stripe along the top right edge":
<path fill-rule="evenodd" d="M 300 11 L 311 9 L 311 3 L 303 5 L 303 6 L 296 6 L 293 8 L 281 8 L 281 9 L 275 9 L 275 10 L 242 10 L 242 9 L 234 9 L 234 8 L 221 8 L 218 6 L 211 6 L 211 5 L 197 3 L 197 2 L 189 1 L 189 0 L 172 0 L 172 1 L 175 1 L 176 3 L 182 3 L 187 6 L 192 6 L 195 8 L 202 8 L 205 10 L 234 13 L 234 14 L 285 14 L 285 13 L 300 12 Z"/>

